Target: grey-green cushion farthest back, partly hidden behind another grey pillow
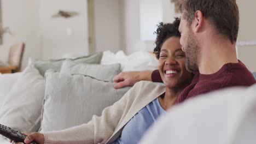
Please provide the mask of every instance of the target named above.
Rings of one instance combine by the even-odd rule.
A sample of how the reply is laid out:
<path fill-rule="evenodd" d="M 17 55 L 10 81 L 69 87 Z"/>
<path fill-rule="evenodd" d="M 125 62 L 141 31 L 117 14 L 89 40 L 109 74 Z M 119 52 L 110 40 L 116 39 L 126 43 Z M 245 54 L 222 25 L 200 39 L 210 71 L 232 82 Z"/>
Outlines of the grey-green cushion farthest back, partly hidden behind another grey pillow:
<path fill-rule="evenodd" d="M 103 55 L 103 52 L 97 52 L 97 53 L 93 53 L 89 56 L 78 57 L 78 58 L 74 58 L 72 60 L 77 63 L 98 64 L 101 62 L 102 55 Z M 53 69 L 53 70 L 59 71 L 61 69 L 61 65 L 64 60 L 65 60 L 65 58 L 53 59 L 53 60 L 49 60 L 49 61 L 36 61 L 36 62 L 34 62 L 34 67 L 36 67 L 39 70 L 40 74 L 44 76 L 45 71 L 48 69 Z"/>

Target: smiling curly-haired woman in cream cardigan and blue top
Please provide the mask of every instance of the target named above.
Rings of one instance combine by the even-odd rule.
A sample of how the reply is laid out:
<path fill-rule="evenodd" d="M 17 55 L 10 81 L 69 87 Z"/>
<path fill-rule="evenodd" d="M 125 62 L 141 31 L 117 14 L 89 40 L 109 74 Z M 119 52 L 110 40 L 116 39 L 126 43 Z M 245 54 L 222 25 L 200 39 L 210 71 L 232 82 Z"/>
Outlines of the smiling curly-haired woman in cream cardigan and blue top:
<path fill-rule="evenodd" d="M 25 143 L 138 143 L 151 124 L 169 109 L 181 91 L 189 85 L 193 74 L 185 68 L 178 31 L 180 20 L 160 23 L 156 30 L 154 53 L 165 86 L 152 82 L 136 83 L 119 101 L 92 117 L 87 124 L 49 133 L 25 133 Z"/>

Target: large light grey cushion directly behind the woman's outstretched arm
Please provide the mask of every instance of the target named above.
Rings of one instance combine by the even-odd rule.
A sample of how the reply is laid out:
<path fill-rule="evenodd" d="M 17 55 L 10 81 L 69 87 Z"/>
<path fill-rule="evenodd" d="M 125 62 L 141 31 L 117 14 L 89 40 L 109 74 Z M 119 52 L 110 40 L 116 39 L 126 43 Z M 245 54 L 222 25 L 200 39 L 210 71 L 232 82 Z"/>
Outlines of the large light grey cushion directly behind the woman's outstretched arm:
<path fill-rule="evenodd" d="M 87 123 L 93 115 L 101 116 L 105 107 L 114 104 L 130 89 L 115 89 L 113 82 L 53 70 L 46 72 L 45 80 L 41 132 Z"/>

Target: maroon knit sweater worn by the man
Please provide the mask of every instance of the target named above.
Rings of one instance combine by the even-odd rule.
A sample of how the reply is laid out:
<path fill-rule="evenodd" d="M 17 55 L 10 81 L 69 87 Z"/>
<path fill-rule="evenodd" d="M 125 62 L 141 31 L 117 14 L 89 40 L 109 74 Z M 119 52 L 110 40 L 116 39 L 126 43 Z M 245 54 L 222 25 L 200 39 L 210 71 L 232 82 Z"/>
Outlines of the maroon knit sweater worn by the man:
<path fill-rule="evenodd" d="M 152 81 L 162 82 L 159 70 L 152 73 Z M 242 63 L 227 63 L 217 73 L 196 73 L 190 85 L 179 94 L 176 104 L 196 95 L 232 86 L 251 86 L 255 83 L 252 73 Z"/>

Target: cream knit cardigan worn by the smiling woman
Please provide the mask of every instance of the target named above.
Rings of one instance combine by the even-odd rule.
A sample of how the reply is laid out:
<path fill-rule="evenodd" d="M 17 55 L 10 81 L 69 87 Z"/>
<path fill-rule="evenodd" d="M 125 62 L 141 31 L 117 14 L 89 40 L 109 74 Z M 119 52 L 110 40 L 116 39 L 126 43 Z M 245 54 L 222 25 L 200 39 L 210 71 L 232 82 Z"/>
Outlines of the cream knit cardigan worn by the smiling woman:
<path fill-rule="evenodd" d="M 139 110 L 164 92 L 165 86 L 149 81 L 137 82 L 119 101 L 106 107 L 100 117 L 93 116 L 90 122 L 77 127 L 43 133 L 44 143 L 112 143 Z"/>

